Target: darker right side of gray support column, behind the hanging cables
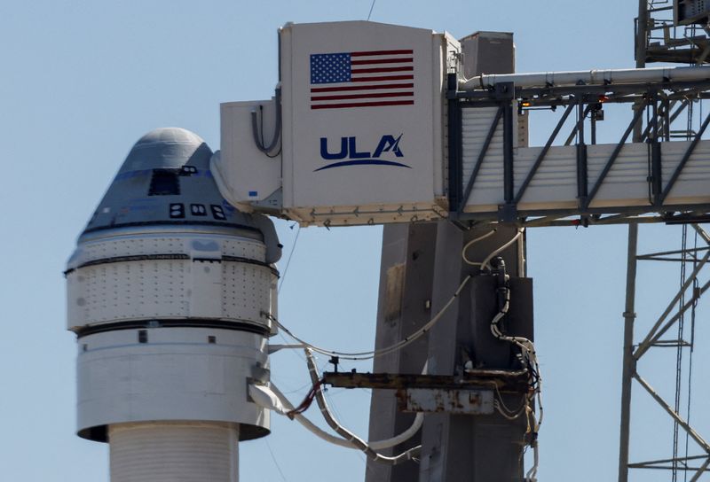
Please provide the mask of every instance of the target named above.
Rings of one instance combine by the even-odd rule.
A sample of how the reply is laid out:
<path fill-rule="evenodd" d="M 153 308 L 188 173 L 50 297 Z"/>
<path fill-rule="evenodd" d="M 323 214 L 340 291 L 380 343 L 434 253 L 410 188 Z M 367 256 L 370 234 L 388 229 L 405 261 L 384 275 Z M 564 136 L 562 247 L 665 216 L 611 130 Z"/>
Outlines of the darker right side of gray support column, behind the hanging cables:
<path fill-rule="evenodd" d="M 437 312 L 451 298 L 461 279 L 477 274 L 478 268 L 461 260 L 461 247 L 470 239 L 485 234 L 488 229 L 463 232 L 451 224 L 439 225 L 437 258 L 434 269 L 432 311 Z M 515 229 L 499 228 L 498 232 L 477 245 L 467 255 L 471 260 L 483 260 L 488 253 L 515 235 Z M 475 249 L 474 249 L 475 247 Z M 501 256 L 511 276 L 522 274 L 519 246 L 511 245 Z M 494 284 L 488 276 L 475 277 L 469 290 L 449 308 L 429 338 L 429 369 L 432 374 L 452 375 L 461 371 L 469 357 L 483 362 L 485 368 L 509 368 L 509 346 L 493 338 L 490 322 L 496 313 Z M 465 293 L 465 294 L 464 294 Z M 511 312 L 516 304 L 532 303 L 529 280 L 511 285 Z M 522 307 L 525 312 L 532 307 Z M 531 336 L 532 320 L 521 320 Z M 502 350 L 502 352 L 501 352 Z M 520 404 L 517 396 L 506 397 L 512 408 Z M 431 414 L 424 419 L 420 482 L 500 482 L 523 478 L 523 448 L 525 417 L 510 421 L 493 416 L 454 416 Z"/>

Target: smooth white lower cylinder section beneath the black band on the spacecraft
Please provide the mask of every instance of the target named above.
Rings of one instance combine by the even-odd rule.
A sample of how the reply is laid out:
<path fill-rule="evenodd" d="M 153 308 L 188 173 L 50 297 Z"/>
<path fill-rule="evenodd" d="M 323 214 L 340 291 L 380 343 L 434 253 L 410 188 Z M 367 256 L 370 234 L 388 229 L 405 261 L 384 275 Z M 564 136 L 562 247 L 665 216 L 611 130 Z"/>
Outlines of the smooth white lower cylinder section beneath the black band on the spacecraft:
<path fill-rule="evenodd" d="M 248 401 L 248 378 L 268 368 L 265 339 L 236 330 L 114 330 L 79 339 L 77 425 L 155 420 L 268 427 Z M 210 338 L 211 337 L 211 338 Z"/>

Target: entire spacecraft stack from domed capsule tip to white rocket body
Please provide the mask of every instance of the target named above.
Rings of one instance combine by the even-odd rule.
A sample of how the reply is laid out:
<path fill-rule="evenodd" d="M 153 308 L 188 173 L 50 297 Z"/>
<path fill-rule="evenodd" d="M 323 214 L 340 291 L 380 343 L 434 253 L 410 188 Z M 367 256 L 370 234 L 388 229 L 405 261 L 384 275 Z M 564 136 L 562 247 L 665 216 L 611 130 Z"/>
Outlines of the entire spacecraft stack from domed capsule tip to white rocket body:
<path fill-rule="evenodd" d="M 67 265 L 77 431 L 108 442 L 113 482 L 238 480 L 238 441 L 269 433 L 272 222 L 217 190 L 199 136 L 131 149 Z"/>

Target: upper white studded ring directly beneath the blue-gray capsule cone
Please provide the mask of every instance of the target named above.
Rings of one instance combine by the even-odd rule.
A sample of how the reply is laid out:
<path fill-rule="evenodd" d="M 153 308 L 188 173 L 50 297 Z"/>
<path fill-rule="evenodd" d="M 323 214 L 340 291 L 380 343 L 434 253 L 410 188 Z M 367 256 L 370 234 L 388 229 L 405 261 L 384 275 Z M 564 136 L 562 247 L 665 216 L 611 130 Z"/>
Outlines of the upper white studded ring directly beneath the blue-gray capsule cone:
<path fill-rule="evenodd" d="M 150 255 L 187 259 L 139 258 Z M 67 273 L 69 328 L 188 317 L 270 324 L 262 312 L 272 304 L 271 269 L 223 256 L 263 261 L 265 246 L 248 238 L 188 233 L 86 242 L 73 261 L 78 268 Z"/>

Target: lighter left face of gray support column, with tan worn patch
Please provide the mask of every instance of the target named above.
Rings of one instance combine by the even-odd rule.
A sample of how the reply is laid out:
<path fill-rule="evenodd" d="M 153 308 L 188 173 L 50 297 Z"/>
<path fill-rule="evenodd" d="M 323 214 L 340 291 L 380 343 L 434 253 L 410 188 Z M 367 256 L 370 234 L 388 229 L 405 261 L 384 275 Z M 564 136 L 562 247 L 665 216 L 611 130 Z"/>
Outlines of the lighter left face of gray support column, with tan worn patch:
<path fill-rule="evenodd" d="M 377 307 L 375 347 L 390 346 L 413 333 L 431 317 L 431 284 L 437 223 L 394 224 L 383 229 L 380 270 L 380 297 Z M 375 358 L 375 373 L 421 373 L 427 360 L 427 338 L 391 354 Z M 393 390 L 373 390 L 370 405 L 369 439 L 389 439 L 405 431 L 414 414 L 397 409 Z M 416 435 L 405 444 L 383 451 L 391 455 L 419 445 Z M 418 477 L 415 463 L 385 465 L 367 461 L 367 482 L 413 481 Z"/>

